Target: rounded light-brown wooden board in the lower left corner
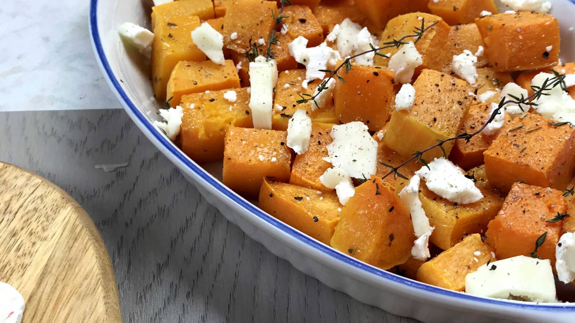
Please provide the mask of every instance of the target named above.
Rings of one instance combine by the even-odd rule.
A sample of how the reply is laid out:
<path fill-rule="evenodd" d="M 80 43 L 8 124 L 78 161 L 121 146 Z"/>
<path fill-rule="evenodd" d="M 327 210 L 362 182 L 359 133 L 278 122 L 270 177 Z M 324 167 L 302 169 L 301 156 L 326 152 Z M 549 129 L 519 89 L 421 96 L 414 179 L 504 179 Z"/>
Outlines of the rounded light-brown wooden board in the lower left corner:
<path fill-rule="evenodd" d="M 40 176 L 0 163 L 0 281 L 24 323 L 121 322 L 116 278 L 90 216 Z"/>

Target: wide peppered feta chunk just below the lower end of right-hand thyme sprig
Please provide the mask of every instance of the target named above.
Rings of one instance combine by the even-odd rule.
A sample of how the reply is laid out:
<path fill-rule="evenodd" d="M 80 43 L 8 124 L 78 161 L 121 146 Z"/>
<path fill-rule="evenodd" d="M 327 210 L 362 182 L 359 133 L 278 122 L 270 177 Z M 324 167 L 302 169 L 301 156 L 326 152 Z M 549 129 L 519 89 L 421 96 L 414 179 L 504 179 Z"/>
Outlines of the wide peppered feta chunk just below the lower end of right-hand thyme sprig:
<path fill-rule="evenodd" d="M 427 166 L 421 167 L 415 175 L 425 180 L 427 188 L 451 202 L 468 204 L 483 198 L 473 180 L 466 178 L 461 168 L 445 157 L 436 158 Z"/>

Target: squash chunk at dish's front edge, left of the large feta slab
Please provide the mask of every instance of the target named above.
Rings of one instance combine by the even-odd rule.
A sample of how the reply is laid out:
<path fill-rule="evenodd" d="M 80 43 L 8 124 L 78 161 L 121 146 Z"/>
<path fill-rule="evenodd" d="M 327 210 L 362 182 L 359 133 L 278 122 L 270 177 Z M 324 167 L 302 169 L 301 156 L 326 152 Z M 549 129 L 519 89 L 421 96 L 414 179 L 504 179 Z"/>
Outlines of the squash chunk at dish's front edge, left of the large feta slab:
<path fill-rule="evenodd" d="M 467 274 L 496 260 L 492 252 L 493 248 L 483 243 L 479 234 L 471 234 L 422 264 L 417 270 L 416 279 L 444 289 L 463 291 Z"/>

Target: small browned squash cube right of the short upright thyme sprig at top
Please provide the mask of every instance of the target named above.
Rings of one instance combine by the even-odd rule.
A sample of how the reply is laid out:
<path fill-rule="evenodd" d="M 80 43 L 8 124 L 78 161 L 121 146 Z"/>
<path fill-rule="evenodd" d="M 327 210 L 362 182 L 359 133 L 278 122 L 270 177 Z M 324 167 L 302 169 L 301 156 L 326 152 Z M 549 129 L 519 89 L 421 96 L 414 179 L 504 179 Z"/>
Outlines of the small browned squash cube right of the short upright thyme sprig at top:
<path fill-rule="evenodd" d="M 286 6 L 283 9 L 282 22 L 287 25 L 287 34 L 291 39 L 304 37 L 308 40 L 308 47 L 316 47 L 323 43 L 324 34 L 320 22 L 313 16 L 308 6 Z M 285 44 L 287 47 L 288 44 Z"/>

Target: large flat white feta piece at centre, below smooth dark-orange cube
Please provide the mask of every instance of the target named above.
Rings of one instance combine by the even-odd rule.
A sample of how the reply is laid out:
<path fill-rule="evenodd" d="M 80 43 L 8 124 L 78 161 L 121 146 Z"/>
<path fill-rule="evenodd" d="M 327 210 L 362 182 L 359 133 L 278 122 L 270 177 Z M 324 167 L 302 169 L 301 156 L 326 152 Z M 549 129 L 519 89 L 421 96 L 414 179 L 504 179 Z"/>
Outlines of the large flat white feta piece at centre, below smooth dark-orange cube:
<path fill-rule="evenodd" d="M 367 126 L 360 121 L 332 126 L 327 145 L 329 161 L 343 168 L 354 178 L 369 177 L 377 170 L 377 141 L 371 138 Z"/>

